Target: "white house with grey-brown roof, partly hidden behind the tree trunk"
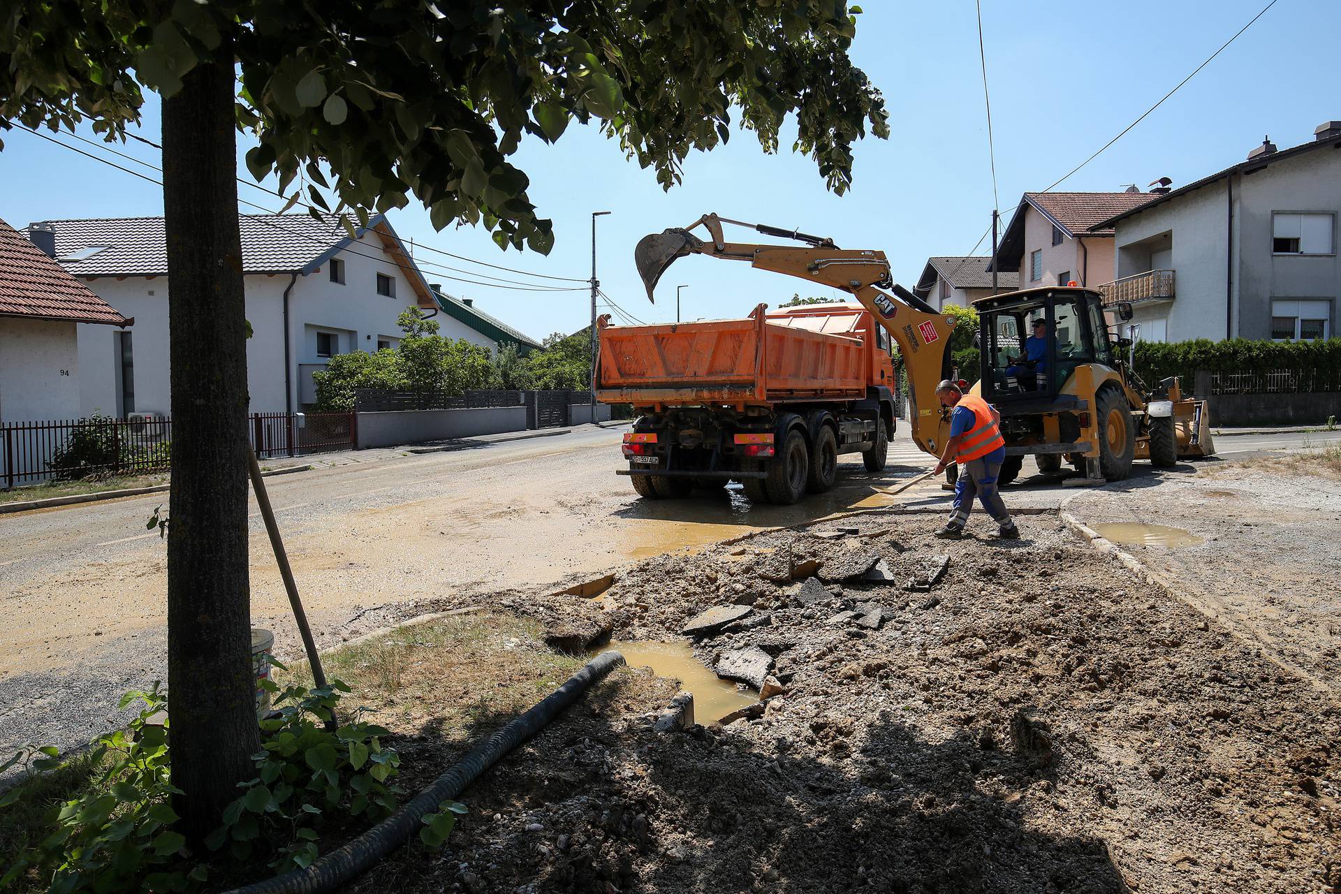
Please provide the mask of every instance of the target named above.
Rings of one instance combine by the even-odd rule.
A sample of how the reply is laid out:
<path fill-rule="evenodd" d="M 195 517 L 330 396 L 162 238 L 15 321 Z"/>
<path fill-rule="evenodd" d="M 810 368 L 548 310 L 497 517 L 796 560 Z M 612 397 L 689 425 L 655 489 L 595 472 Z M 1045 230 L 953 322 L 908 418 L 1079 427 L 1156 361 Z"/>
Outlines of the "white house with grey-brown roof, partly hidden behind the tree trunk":
<path fill-rule="evenodd" d="M 316 395 L 312 373 L 337 354 L 396 347 L 406 308 L 437 315 L 441 334 L 496 347 L 492 327 L 443 306 L 385 216 L 351 239 L 335 217 L 243 214 L 247 378 L 252 411 L 295 411 Z M 87 414 L 169 413 L 168 253 L 162 217 L 52 220 L 58 260 L 137 326 L 79 327 L 79 406 Z"/>

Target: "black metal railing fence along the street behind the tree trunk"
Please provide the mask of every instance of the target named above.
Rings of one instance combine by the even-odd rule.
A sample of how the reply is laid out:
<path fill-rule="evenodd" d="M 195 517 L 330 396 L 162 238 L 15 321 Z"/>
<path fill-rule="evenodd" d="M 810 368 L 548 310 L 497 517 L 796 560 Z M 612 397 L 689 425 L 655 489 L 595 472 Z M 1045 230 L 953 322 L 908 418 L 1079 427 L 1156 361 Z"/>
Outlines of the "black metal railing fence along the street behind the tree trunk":
<path fill-rule="evenodd" d="M 256 457 L 347 450 L 355 442 L 353 413 L 253 413 L 247 436 Z M 46 420 L 0 425 L 0 483 L 5 488 L 46 480 L 76 481 L 166 472 L 172 420 Z"/>

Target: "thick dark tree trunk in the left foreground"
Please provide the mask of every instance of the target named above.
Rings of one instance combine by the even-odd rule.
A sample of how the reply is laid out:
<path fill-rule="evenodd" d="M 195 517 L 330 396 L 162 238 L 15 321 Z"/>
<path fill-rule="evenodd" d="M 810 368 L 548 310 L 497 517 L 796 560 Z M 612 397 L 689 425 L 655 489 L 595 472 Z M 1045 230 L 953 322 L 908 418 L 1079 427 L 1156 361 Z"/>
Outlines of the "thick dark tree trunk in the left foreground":
<path fill-rule="evenodd" d="M 247 332 L 231 46 L 164 101 L 172 335 L 168 693 L 182 832 L 219 826 L 260 748 L 247 579 Z"/>

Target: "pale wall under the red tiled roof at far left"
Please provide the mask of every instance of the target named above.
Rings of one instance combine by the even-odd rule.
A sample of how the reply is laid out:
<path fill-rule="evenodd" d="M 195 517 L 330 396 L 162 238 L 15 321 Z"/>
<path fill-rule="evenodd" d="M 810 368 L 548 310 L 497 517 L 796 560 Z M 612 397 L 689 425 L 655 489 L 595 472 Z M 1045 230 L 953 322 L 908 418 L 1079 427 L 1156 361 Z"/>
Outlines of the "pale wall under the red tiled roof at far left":
<path fill-rule="evenodd" d="M 78 323 L 0 318 L 0 422 L 79 417 Z M 98 326 L 107 336 L 114 326 Z"/>

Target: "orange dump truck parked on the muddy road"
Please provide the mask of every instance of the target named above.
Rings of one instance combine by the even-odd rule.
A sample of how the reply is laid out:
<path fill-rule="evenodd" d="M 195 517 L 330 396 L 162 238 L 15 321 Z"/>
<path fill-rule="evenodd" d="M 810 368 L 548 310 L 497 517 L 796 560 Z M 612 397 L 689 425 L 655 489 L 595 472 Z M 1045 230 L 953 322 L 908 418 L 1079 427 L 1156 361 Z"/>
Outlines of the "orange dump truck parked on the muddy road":
<path fill-rule="evenodd" d="M 742 320 L 610 326 L 597 398 L 632 403 L 621 469 L 644 497 L 738 480 L 751 500 L 791 504 L 833 487 L 838 456 L 885 466 L 894 430 L 889 339 L 857 303 Z"/>

